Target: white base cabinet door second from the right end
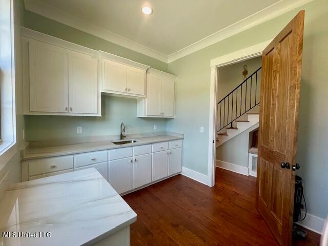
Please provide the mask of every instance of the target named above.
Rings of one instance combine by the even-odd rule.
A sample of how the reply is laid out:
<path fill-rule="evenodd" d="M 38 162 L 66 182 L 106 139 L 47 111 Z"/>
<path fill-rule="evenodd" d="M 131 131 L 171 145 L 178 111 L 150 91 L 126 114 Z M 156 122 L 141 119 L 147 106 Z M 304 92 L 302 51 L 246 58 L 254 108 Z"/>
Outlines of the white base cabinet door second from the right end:
<path fill-rule="evenodd" d="M 152 154 L 152 181 L 168 176 L 168 151 L 160 151 Z"/>

